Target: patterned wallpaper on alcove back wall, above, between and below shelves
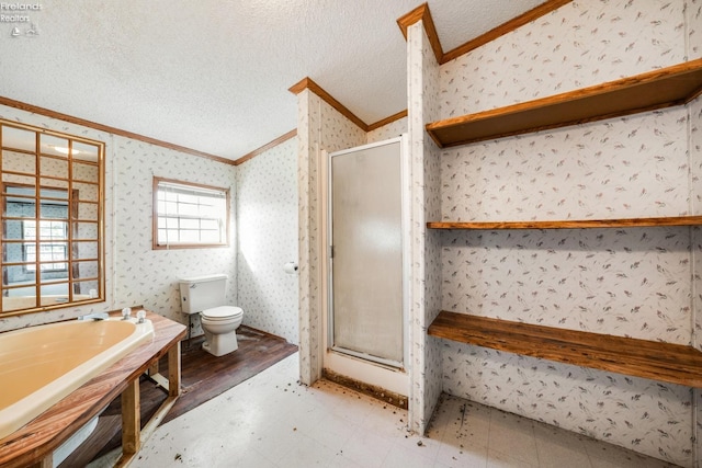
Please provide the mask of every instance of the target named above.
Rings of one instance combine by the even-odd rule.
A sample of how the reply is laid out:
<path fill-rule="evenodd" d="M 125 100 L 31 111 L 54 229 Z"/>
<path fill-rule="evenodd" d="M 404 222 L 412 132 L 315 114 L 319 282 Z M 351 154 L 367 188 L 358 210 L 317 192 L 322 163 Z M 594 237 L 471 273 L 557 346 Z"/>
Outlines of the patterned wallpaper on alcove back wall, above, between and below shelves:
<path fill-rule="evenodd" d="M 699 7 L 568 3 L 442 66 L 441 116 L 670 66 L 686 59 L 688 43 L 699 56 L 692 27 L 699 21 L 689 21 L 699 18 Z M 441 156 L 442 219 L 699 213 L 700 183 L 690 171 L 699 165 L 691 164 L 700 156 L 699 101 L 448 149 Z M 698 236 L 690 228 L 443 232 L 442 307 L 689 344 L 697 320 L 691 301 L 700 300 L 690 281 Z M 692 409 L 700 397 L 688 387 L 448 341 L 442 354 L 449 393 L 681 466 L 694 463 Z"/>

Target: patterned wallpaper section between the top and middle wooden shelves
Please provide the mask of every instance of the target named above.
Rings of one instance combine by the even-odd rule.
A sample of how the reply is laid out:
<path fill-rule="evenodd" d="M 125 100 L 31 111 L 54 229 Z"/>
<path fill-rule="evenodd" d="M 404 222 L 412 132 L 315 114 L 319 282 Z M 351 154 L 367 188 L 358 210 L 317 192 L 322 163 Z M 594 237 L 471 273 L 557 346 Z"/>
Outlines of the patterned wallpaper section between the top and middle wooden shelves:
<path fill-rule="evenodd" d="M 672 107 L 446 150 L 442 219 L 689 214 L 686 121 Z"/>

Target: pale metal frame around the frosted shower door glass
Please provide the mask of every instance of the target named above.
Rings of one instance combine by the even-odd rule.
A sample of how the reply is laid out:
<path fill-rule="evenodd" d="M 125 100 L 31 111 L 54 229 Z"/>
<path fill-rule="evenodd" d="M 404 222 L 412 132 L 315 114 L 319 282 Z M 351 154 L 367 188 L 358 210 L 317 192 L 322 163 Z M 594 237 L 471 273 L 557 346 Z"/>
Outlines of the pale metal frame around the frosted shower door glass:
<path fill-rule="evenodd" d="M 388 145 L 398 145 L 399 150 L 399 167 L 400 167 L 400 231 L 401 231 L 401 308 L 403 308 L 403 327 L 401 327 L 401 343 L 403 343 L 403 361 L 397 362 L 394 359 L 386 359 L 380 356 L 373 356 L 366 353 L 358 352 L 354 350 L 348 350 L 333 344 L 333 230 L 332 230 L 332 210 L 333 210 L 333 175 L 332 175 L 332 158 L 339 156 L 346 156 L 349 153 L 363 151 L 372 148 L 377 148 Z M 410 161 L 408 151 L 407 135 L 403 134 L 399 137 L 386 139 L 383 141 L 372 142 L 369 145 L 362 145 L 341 151 L 335 151 L 327 155 L 327 352 L 333 352 L 337 354 L 350 356 L 356 359 L 362 359 L 370 364 L 380 365 L 382 367 L 392 370 L 405 370 L 409 363 L 409 292 L 410 292 Z"/>

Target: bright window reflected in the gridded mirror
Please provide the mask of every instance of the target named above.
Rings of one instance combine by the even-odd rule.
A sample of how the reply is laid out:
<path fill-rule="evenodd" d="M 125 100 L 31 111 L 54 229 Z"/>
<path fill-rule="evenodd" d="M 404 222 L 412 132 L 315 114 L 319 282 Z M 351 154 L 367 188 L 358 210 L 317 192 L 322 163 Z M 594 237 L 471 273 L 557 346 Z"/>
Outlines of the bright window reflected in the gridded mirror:
<path fill-rule="evenodd" d="M 22 225 L 24 240 L 36 241 L 36 224 L 34 222 L 34 220 L 23 221 Z M 68 271 L 68 263 L 66 263 L 68 261 L 68 222 L 41 220 L 38 239 L 38 260 L 41 271 Z M 25 265 L 27 272 L 36 271 L 36 242 L 26 242 L 24 244 L 24 261 L 32 262 Z"/>

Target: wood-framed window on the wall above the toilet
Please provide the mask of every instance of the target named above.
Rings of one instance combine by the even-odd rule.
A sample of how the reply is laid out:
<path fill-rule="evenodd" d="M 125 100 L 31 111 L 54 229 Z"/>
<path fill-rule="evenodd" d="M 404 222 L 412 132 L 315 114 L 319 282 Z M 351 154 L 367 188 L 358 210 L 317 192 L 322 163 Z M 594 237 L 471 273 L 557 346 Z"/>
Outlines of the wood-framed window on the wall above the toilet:
<path fill-rule="evenodd" d="M 228 189 L 154 178 L 154 249 L 228 244 Z"/>

